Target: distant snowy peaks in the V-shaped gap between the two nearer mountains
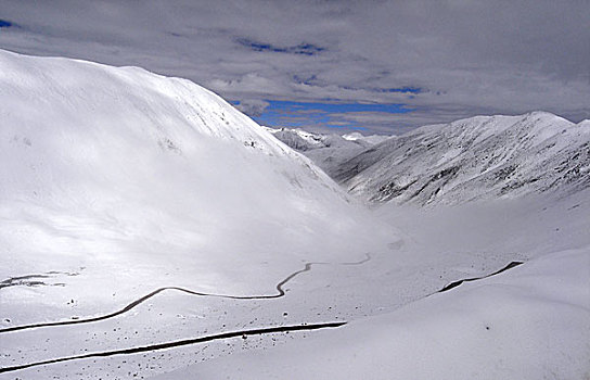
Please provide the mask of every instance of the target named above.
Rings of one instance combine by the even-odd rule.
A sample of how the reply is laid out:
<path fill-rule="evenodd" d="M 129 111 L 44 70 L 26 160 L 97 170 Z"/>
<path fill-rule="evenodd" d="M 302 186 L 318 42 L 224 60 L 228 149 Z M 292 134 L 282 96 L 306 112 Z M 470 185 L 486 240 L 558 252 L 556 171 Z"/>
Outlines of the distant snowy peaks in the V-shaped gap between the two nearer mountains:
<path fill-rule="evenodd" d="M 392 136 L 363 136 L 352 132 L 344 136 L 336 134 L 312 134 L 303 129 L 266 128 L 288 147 L 311 159 L 328 175 L 332 176 L 337 167 L 376 143 Z"/>

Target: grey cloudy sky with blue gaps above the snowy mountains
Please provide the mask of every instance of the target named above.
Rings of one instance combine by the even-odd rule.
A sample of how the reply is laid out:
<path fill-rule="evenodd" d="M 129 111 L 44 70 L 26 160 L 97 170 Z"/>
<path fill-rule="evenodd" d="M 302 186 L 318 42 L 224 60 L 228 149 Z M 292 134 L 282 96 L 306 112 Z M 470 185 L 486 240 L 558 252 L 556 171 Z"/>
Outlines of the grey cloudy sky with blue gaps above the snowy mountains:
<path fill-rule="evenodd" d="M 0 49 L 142 66 L 260 124 L 365 134 L 590 118 L 589 25 L 590 0 L 0 0 Z"/>

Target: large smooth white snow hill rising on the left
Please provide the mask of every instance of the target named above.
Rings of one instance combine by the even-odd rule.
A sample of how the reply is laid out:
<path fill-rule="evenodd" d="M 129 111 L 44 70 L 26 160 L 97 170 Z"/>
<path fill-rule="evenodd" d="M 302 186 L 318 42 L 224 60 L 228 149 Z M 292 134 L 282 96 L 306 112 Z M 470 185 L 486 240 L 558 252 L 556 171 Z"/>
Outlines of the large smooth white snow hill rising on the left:
<path fill-rule="evenodd" d="M 100 281 L 152 289 L 169 271 L 262 293 L 374 240 L 308 159 L 213 92 L 137 67 L 0 50 L 0 162 L 1 279 L 85 267 L 87 291 L 110 293 Z"/>

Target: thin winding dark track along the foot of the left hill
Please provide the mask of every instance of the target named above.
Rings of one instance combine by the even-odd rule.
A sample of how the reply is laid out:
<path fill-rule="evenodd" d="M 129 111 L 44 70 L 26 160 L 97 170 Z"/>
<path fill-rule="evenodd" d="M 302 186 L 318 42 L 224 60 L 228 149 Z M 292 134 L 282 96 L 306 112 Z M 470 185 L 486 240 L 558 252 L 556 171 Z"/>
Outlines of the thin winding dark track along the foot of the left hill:
<path fill-rule="evenodd" d="M 197 296 L 211 296 L 211 297 L 218 297 L 218 299 L 230 299 L 230 300 L 272 300 L 272 299 L 280 299 L 285 295 L 285 291 L 283 290 L 283 287 L 291 280 L 293 280 L 298 275 L 310 271 L 311 267 L 313 265 L 361 265 L 367 263 L 371 259 L 371 254 L 367 253 L 367 257 L 359 261 L 359 262 L 352 262 L 352 263 L 325 263 L 325 262 L 317 262 L 317 263 L 306 263 L 303 269 L 299 269 L 297 271 L 292 273 L 287 277 L 285 277 L 281 282 L 279 282 L 275 287 L 277 294 L 262 294 L 262 295 L 230 295 L 230 294 L 217 294 L 217 293 L 204 293 L 204 292 L 197 292 L 194 290 L 180 288 L 180 287 L 164 287 L 158 288 L 154 290 L 153 292 L 145 294 L 144 296 L 131 302 L 127 306 L 123 307 L 121 309 L 118 309 L 116 312 L 98 316 L 98 317 L 90 317 L 90 318 L 84 318 L 84 319 L 68 319 L 68 320 L 61 320 L 61 321 L 52 321 L 52 322 L 42 322 L 42 324 L 31 324 L 31 325 L 22 325 L 22 326 L 14 326 L 9 327 L 4 329 L 0 329 L 0 333 L 4 332 L 11 332 L 11 331 L 21 331 L 21 330 L 29 330 L 29 329 L 37 329 L 37 328 L 43 328 L 43 327 L 55 327 L 55 326 L 67 326 L 67 325 L 80 325 L 80 324 L 90 324 L 90 322 L 97 322 L 100 320 L 105 320 L 110 318 L 114 318 L 116 316 L 119 316 L 121 314 L 125 314 L 132 308 L 137 307 L 138 305 L 144 303 L 145 301 L 150 300 L 151 297 L 166 291 L 166 290 L 176 290 L 179 292 L 197 295 Z"/>

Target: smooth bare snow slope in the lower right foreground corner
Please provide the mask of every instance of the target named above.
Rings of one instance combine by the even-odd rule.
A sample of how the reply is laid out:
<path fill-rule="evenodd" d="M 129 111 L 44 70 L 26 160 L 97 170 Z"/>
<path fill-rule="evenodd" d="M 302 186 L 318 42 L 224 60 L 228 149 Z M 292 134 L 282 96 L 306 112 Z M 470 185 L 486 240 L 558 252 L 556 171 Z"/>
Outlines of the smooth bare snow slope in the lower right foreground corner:
<path fill-rule="evenodd" d="M 395 313 L 172 379 L 587 379 L 590 256 L 553 253 Z"/>

